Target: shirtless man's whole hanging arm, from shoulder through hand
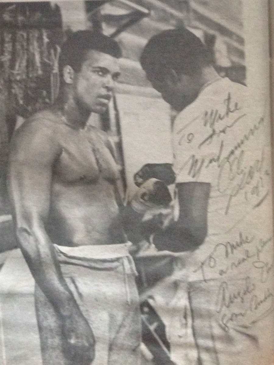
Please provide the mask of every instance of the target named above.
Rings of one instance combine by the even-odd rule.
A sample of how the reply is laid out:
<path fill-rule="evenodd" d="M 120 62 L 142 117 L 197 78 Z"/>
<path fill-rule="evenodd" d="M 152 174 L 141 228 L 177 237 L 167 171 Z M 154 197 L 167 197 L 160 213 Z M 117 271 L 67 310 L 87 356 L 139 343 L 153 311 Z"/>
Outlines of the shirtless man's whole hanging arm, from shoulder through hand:
<path fill-rule="evenodd" d="M 53 126 L 34 121 L 15 134 L 9 156 L 8 189 L 18 244 L 36 283 L 61 318 L 67 356 L 84 365 L 94 357 L 93 334 L 62 276 L 45 230 L 52 166 L 61 152 Z"/>

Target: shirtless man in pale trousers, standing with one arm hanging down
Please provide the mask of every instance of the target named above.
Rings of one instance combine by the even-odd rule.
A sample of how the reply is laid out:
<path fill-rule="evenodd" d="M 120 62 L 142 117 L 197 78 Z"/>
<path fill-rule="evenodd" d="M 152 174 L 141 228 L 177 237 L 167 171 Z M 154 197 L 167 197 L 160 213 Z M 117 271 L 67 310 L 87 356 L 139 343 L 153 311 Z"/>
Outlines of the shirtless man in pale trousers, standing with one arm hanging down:
<path fill-rule="evenodd" d="M 11 142 L 9 193 L 36 283 L 43 365 L 138 364 L 135 271 L 115 223 L 119 169 L 107 135 L 86 127 L 91 112 L 107 109 L 119 57 L 113 39 L 72 34 L 62 46 L 58 100 Z"/>

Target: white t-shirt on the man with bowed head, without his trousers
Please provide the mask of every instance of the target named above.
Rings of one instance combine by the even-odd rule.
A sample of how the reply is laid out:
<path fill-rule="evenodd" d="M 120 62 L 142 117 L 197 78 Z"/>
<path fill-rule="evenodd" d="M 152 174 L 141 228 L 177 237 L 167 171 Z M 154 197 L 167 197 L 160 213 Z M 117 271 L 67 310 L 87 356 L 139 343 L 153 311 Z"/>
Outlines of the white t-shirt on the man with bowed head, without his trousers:
<path fill-rule="evenodd" d="M 218 78 L 174 122 L 176 183 L 211 185 L 208 235 L 195 251 L 193 280 L 246 273 L 272 245 L 269 122 L 247 96 L 247 87 Z"/>

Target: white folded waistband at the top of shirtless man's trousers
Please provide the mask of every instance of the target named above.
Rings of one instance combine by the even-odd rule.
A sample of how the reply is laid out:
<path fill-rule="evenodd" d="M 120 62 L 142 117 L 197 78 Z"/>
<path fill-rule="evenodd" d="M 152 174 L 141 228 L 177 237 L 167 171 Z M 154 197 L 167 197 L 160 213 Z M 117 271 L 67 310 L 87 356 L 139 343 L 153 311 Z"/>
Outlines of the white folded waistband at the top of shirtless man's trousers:
<path fill-rule="evenodd" d="M 57 251 L 74 258 L 87 258 L 98 260 L 109 260 L 129 256 L 131 242 L 119 243 L 117 245 L 87 245 L 67 247 L 54 245 Z"/>

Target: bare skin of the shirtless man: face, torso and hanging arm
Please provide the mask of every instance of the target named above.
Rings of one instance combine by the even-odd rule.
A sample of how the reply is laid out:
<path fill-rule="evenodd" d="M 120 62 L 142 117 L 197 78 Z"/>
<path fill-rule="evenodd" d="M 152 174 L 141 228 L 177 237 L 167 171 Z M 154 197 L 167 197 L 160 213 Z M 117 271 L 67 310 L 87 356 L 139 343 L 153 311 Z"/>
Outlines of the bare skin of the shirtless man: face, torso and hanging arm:
<path fill-rule="evenodd" d="M 16 238 L 36 283 L 60 316 L 70 365 L 91 364 L 95 339 L 62 276 L 53 243 L 113 243 L 110 227 L 119 213 L 115 161 L 106 136 L 96 129 L 89 136 L 83 128 L 92 111 L 106 110 L 118 72 L 117 59 L 98 51 L 86 54 L 80 72 L 66 66 L 58 102 L 46 116 L 38 114 L 19 128 L 9 156 Z M 107 161 L 103 173 L 94 141 Z"/>

